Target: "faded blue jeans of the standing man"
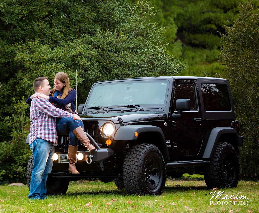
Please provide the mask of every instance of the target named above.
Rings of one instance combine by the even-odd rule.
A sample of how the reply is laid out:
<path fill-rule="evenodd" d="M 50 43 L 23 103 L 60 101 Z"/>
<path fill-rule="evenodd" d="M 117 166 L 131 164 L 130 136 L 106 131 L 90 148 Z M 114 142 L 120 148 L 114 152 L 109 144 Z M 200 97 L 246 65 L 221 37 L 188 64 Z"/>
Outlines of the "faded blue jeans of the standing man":
<path fill-rule="evenodd" d="M 34 162 L 28 197 L 30 199 L 45 199 L 47 197 L 46 182 L 53 166 L 54 143 L 37 138 L 30 144 L 30 148 Z"/>

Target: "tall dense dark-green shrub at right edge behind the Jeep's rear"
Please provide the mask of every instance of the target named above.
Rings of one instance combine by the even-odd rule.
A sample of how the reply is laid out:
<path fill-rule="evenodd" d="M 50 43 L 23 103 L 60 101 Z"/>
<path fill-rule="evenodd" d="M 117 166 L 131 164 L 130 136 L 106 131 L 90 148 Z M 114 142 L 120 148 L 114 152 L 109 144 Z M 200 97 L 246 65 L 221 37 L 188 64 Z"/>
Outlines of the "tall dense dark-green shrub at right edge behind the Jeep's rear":
<path fill-rule="evenodd" d="M 228 79 L 244 136 L 241 149 L 241 175 L 259 177 L 259 13 L 250 3 L 240 6 L 239 17 L 222 35 L 221 63 L 223 77 Z"/>

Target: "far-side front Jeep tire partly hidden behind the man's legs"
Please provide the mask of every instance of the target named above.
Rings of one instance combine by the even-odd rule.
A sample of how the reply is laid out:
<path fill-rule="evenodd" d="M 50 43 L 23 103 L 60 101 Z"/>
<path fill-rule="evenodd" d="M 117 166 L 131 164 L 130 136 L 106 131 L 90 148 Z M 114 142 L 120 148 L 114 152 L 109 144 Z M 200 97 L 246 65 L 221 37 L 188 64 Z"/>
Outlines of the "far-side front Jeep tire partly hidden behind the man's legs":
<path fill-rule="evenodd" d="M 27 164 L 27 185 L 29 190 L 31 188 L 31 177 L 32 177 L 32 168 L 33 168 L 34 157 L 31 155 L 28 164 Z M 66 194 L 69 185 L 69 179 L 67 178 L 53 178 L 48 176 L 46 188 L 47 195 L 61 195 Z"/>

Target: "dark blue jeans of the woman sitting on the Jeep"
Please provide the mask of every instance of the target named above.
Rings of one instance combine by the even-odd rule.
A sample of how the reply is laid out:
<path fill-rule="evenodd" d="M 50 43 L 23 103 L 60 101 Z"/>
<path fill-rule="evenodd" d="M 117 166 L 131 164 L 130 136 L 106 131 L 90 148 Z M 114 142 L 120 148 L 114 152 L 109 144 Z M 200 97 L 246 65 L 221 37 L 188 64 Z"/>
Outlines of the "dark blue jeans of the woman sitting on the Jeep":
<path fill-rule="evenodd" d="M 83 122 L 80 120 L 74 120 L 73 118 L 56 118 L 57 135 L 69 134 L 69 145 L 78 145 L 78 139 L 74 135 L 73 130 L 80 126 L 84 129 Z"/>

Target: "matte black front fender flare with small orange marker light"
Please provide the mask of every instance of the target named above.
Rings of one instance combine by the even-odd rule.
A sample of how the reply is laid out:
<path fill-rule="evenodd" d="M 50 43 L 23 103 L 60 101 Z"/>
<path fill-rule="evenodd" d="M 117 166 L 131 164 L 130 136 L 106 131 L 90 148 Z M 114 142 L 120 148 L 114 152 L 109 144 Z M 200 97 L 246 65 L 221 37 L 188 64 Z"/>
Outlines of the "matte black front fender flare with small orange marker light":
<path fill-rule="evenodd" d="M 162 147 L 163 150 L 162 153 L 164 155 L 165 159 L 170 159 L 168 148 L 166 145 L 166 139 L 164 138 L 164 133 L 161 128 L 157 126 L 152 125 L 126 125 L 121 126 L 117 129 L 115 135 L 114 135 L 114 141 L 119 140 L 137 140 L 138 137 L 135 136 L 135 132 L 137 132 L 139 135 L 141 133 L 148 133 L 148 132 L 154 132 L 157 133 L 160 136 L 160 139 L 162 141 Z"/>

